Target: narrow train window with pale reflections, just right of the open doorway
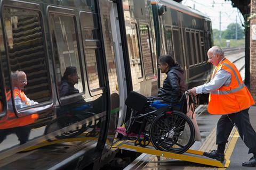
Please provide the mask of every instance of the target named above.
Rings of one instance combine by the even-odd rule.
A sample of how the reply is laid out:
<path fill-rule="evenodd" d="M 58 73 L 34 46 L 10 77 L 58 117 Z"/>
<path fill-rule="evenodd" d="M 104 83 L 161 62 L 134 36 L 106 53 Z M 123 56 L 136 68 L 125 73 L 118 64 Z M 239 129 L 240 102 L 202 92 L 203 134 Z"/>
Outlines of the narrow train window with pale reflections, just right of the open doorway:
<path fill-rule="evenodd" d="M 132 23 L 131 29 L 127 30 L 127 41 L 128 41 L 128 49 L 129 49 L 129 58 L 130 58 L 130 67 L 131 67 L 131 75 L 132 75 L 132 87 L 134 91 L 138 91 L 140 89 L 140 81 L 142 78 L 142 65 L 141 65 L 141 57 L 139 51 L 139 41 L 137 34 L 137 24 Z"/>

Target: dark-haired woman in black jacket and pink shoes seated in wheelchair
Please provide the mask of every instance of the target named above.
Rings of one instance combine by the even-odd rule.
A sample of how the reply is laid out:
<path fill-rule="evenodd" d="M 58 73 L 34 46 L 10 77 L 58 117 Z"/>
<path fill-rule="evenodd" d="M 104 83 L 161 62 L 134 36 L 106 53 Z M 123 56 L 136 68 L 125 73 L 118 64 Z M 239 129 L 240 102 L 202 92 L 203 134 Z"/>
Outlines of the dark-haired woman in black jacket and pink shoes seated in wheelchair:
<path fill-rule="evenodd" d="M 163 87 L 159 89 L 157 96 L 148 97 L 149 100 L 164 100 L 167 101 L 171 107 L 180 108 L 179 100 L 182 94 L 186 91 L 184 71 L 182 67 L 174 61 L 171 55 L 163 55 L 159 57 L 158 68 L 161 73 L 165 73 L 167 77 L 163 81 Z M 135 137 L 138 134 L 139 124 L 132 124 L 130 134 L 126 134 L 125 126 L 117 128 L 117 132 L 129 137 Z"/>

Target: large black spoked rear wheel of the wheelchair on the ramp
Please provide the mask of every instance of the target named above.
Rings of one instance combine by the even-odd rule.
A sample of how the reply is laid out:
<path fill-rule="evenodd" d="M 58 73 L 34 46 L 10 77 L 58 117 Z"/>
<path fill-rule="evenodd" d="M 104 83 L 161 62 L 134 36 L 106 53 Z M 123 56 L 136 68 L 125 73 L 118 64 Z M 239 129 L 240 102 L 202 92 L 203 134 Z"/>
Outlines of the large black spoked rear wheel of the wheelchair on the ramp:
<path fill-rule="evenodd" d="M 184 113 L 165 112 L 157 116 L 151 124 L 150 139 L 158 150 L 182 154 L 194 144 L 195 128 Z"/>

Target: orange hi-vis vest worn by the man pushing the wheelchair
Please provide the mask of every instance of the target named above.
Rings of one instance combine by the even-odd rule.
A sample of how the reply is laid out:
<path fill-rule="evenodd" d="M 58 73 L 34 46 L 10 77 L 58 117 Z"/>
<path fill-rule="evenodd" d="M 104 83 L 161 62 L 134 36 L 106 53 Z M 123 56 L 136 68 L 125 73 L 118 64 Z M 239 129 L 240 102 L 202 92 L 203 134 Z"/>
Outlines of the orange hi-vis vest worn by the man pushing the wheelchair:
<path fill-rule="evenodd" d="M 254 100 L 243 83 L 236 66 L 225 58 L 215 68 L 212 79 L 220 69 L 231 74 L 231 82 L 229 86 L 222 86 L 218 90 L 210 92 L 208 112 L 218 115 L 231 114 L 254 105 Z"/>

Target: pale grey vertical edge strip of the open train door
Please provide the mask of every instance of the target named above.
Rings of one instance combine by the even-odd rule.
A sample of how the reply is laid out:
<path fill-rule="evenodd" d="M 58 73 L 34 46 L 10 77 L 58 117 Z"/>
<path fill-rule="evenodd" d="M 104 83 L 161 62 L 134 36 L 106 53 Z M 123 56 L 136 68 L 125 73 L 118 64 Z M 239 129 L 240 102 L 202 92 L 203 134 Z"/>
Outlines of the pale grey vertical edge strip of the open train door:
<path fill-rule="evenodd" d="M 125 99 L 127 97 L 127 86 L 126 86 L 126 78 L 125 78 L 125 69 L 124 69 L 124 60 L 123 60 L 123 49 L 121 43 L 121 33 L 119 28 L 119 19 L 117 12 L 117 4 L 112 2 L 109 5 L 109 14 L 110 14 L 110 22 L 111 22 L 111 32 L 113 38 L 113 47 L 115 53 L 115 62 L 117 66 L 117 81 L 118 81 L 118 90 L 120 97 L 120 110 L 117 126 L 120 126 L 124 120 L 126 113 Z"/>

